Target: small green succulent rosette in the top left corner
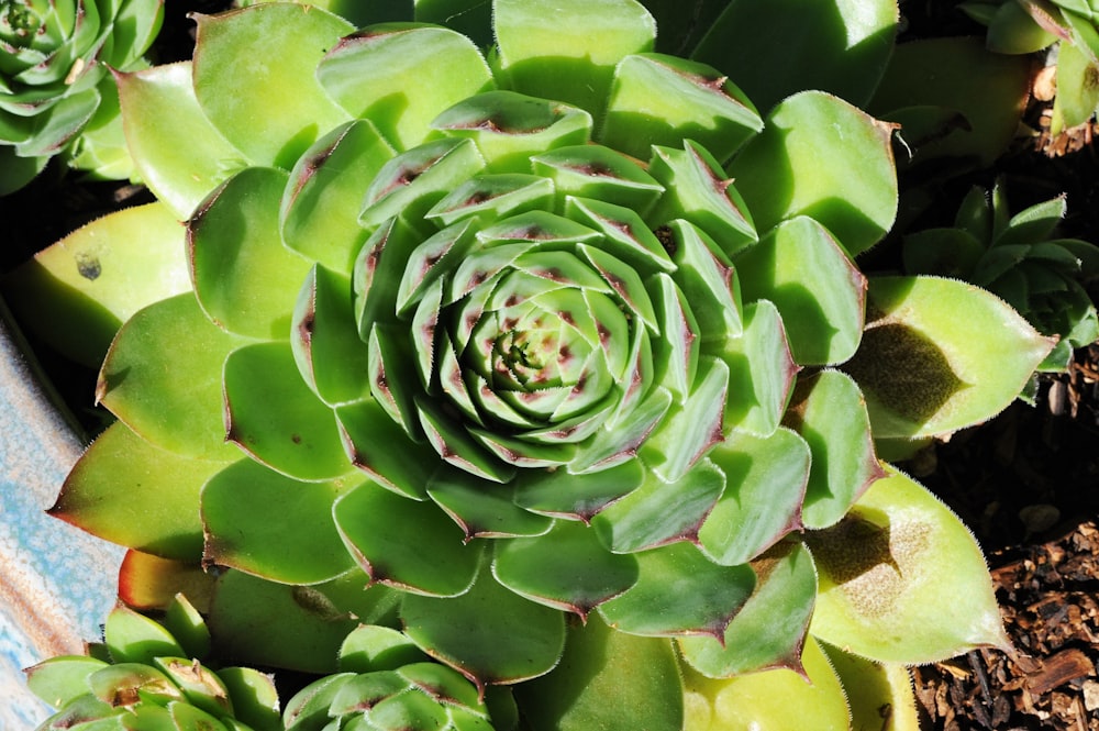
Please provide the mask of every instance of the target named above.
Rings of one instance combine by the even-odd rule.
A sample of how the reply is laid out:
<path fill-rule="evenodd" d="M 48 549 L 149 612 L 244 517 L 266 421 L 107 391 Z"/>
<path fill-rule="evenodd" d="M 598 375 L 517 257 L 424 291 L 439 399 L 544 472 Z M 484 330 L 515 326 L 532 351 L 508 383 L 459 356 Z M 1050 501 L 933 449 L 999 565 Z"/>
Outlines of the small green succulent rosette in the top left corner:
<path fill-rule="evenodd" d="M 164 0 L 0 2 L 0 195 L 51 157 L 106 178 L 132 174 L 108 68 L 134 70 Z"/>

